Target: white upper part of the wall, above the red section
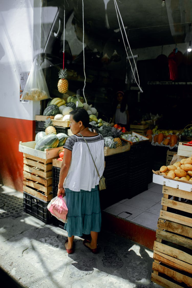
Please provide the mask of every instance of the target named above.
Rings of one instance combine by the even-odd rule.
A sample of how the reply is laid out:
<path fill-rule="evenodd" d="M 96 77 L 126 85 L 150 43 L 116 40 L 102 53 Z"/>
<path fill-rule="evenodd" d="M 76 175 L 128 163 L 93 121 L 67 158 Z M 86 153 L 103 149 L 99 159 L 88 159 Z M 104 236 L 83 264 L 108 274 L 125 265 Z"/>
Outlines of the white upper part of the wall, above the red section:
<path fill-rule="evenodd" d="M 35 120 L 40 102 L 20 102 L 20 73 L 30 71 L 35 50 L 39 51 L 41 0 L 1 0 L 0 11 L 0 116 Z"/>

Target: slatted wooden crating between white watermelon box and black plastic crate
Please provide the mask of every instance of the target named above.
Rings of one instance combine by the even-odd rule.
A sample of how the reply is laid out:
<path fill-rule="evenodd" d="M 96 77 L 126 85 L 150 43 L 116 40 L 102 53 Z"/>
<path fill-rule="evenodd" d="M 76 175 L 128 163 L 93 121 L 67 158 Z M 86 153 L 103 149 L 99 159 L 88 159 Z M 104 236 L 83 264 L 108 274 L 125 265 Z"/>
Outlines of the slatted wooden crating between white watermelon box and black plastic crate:
<path fill-rule="evenodd" d="M 23 191 L 41 200 L 50 201 L 53 198 L 53 159 L 42 159 L 25 153 L 23 156 Z"/>

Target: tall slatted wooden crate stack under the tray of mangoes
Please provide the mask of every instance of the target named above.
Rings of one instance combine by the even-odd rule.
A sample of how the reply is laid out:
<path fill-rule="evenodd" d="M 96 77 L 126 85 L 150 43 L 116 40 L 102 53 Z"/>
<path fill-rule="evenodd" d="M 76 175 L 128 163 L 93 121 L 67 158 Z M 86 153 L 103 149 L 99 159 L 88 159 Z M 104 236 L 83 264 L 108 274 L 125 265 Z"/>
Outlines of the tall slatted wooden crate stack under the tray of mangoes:
<path fill-rule="evenodd" d="M 192 287 L 192 194 L 167 186 L 162 192 L 151 281 L 166 288 Z"/>

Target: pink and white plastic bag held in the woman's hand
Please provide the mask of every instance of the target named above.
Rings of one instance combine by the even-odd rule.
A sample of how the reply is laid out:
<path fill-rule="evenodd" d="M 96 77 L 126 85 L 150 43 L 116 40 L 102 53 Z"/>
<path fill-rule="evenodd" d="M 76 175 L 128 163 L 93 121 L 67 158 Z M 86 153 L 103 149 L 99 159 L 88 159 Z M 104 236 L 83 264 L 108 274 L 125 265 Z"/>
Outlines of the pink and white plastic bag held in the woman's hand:
<path fill-rule="evenodd" d="M 64 197 L 54 197 L 47 205 L 47 209 L 50 213 L 63 223 L 66 222 L 68 208 L 66 206 L 66 200 Z"/>

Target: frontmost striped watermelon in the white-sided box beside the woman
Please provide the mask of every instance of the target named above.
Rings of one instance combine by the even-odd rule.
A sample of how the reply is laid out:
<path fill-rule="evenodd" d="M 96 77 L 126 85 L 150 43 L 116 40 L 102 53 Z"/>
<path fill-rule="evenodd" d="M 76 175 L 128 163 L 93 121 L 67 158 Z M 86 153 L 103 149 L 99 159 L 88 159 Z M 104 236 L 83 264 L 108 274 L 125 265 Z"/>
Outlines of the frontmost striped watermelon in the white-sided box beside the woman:
<path fill-rule="evenodd" d="M 44 149 L 56 148 L 59 143 L 59 139 L 55 134 L 45 135 L 35 145 L 35 150 L 44 151 Z"/>

